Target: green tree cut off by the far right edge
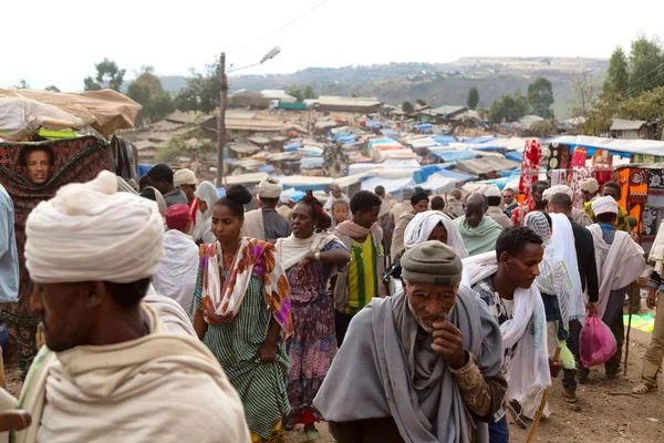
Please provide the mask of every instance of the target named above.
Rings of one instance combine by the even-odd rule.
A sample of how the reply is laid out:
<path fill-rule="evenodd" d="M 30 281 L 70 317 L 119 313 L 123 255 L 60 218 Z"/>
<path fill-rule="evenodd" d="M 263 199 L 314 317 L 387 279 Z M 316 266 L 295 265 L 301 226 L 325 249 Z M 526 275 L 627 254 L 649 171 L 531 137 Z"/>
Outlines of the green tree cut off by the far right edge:
<path fill-rule="evenodd" d="M 630 52 L 630 86 L 627 95 L 664 85 L 664 49 L 657 38 L 647 39 L 641 34 L 632 42 Z"/>

